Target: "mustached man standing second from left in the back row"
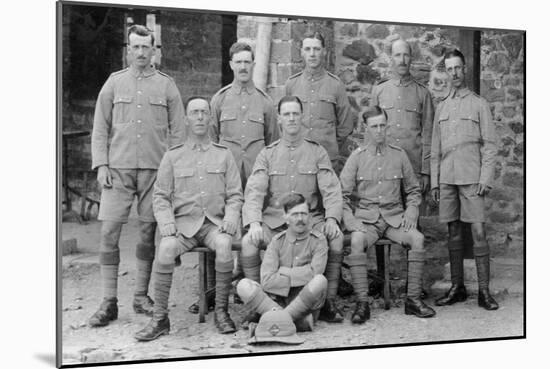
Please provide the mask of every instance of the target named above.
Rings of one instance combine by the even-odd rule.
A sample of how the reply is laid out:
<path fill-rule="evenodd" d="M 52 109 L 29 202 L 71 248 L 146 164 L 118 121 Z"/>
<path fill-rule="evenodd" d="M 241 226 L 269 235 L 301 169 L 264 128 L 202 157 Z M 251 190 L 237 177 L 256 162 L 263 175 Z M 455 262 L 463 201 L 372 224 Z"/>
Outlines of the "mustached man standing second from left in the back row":
<path fill-rule="evenodd" d="M 231 150 L 244 188 L 256 156 L 279 138 L 279 129 L 273 101 L 252 81 L 254 52 L 250 45 L 234 43 L 229 58 L 234 79 L 212 98 L 211 135 Z"/>

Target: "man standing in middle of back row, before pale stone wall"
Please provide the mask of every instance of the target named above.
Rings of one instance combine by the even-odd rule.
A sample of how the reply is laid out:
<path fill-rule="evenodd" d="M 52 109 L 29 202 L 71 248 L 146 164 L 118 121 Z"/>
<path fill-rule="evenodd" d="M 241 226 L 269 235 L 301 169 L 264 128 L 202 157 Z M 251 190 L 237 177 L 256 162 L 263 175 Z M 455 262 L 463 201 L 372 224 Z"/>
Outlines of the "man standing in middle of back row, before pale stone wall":
<path fill-rule="evenodd" d="M 319 32 L 307 33 L 302 39 L 301 55 L 305 69 L 288 78 L 287 96 L 302 101 L 305 137 L 320 143 L 327 150 L 332 167 L 340 173 L 343 163 L 338 153 L 353 131 L 352 108 L 346 88 L 340 79 L 324 67 L 325 39 Z"/>

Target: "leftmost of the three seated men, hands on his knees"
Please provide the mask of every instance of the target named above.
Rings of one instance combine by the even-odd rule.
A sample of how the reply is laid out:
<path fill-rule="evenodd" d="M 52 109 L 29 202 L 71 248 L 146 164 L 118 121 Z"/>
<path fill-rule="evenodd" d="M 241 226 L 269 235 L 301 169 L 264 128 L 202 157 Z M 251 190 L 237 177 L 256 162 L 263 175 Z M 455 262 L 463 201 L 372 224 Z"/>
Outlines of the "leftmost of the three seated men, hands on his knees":
<path fill-rule="evenodd" d="M 208 136 L 208 100 L 191 97 L 186 104 L 189 128 L 185 143 L 162 158 L 155 182 L 153 208 L 162 239 L 154 264 L 154 312 L 149 324 L 135 334 L 151 341 L 170 331 L 168 297 L 175 258 L 203 244 L 216 252 L 216 309 L 220 333 L 235 332 L 228 313 L 233 256 L 243 195 L 239 171 L 229 149 Z"/>

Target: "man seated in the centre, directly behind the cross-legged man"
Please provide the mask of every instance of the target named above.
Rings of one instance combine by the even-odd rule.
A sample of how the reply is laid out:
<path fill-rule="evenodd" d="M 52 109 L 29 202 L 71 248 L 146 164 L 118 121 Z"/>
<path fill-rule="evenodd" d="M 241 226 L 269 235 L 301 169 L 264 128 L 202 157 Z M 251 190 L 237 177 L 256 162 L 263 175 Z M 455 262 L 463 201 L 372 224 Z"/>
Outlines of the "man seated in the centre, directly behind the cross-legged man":
<path fill-rule="evenodd" d="M 319 319 L 341 322 L 343 316 L 334 301 L 343 256 L 338 225 L 342 215 L 340 183 L 326 150 L 304 138 L 300 99 L 283 97 L 278 111 L 282 138 L 260 152 L 245 189 L 243 225 L 248 233 L 241 251 L 245 277 L 260 281 L 259 249 L 286 229 L 281 198 L 286 193 L 301 193 L 309 204 L 312 228 L 324 234 L 329 245 L 327 303 Z"/>

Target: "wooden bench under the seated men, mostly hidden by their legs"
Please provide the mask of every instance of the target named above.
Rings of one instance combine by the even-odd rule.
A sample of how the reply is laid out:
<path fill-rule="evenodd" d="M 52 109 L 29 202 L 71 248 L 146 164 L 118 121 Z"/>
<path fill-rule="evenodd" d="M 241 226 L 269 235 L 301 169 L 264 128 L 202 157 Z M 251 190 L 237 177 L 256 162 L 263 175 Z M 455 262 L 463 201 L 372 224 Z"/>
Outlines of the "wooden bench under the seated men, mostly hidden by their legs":
<path fill-rule="evenodd" d="M 344 247 L 348 247 L 351 242 L 351 235 L 344 235 Z M 384 309 L 390 308 L 390 251 L 391 246 L 395 244 L 386 238 L 379 239 L 376 244 L 376 265 L 379 275 L 384 278 Z M 233 241 L 231 247 L 233 251 L 241 250 L 241 241 Z M 208 314 L 207 301 L 214 288 L 208 289 L 207 286 L 207 258 L 214 257 L 214 252 L 207 247 L 195 247 L 192 252 L 199 254 L 199 323 L 204 323 L 205 315 Z M 382 260 L 380 260 L 382 259 Z M 383 269 L 383 270 L 380 270 Z"/>

